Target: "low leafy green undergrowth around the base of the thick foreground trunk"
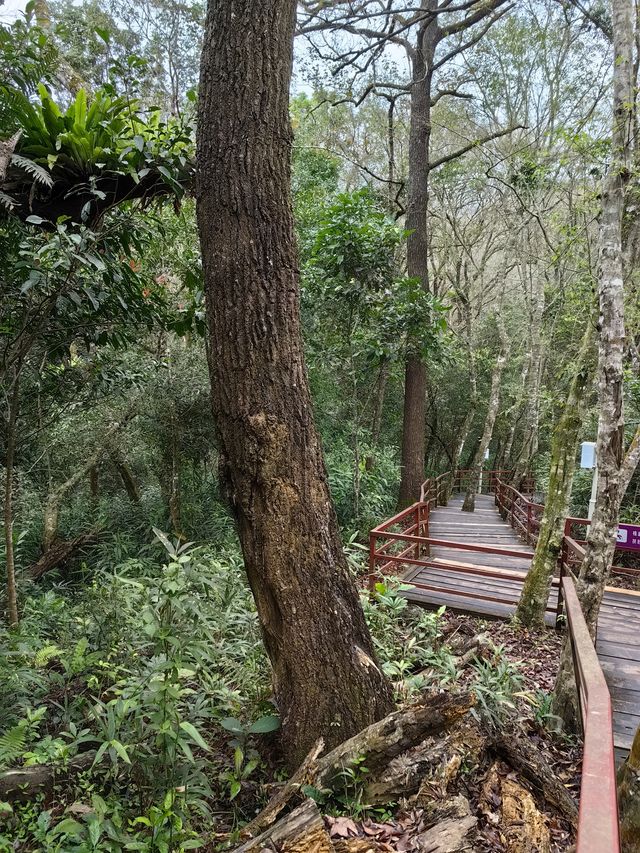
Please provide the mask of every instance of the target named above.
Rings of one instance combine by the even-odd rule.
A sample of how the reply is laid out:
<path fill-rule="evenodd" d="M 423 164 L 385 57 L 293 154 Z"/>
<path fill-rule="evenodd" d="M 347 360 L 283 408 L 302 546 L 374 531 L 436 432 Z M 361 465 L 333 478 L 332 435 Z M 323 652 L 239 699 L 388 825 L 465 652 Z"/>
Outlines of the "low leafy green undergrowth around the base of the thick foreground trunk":
<path fill-rule="evenodd" d="M 0 851 L 222 849 L 264 803 L 265 783 L 281 778 L 269 666 L 237 546 L 158 539 L 144 559 L 108 566 L 103 550 L 82 583 L 32 589 L 20 630 L 0 633 L 0 766 L 59 770 L 46 801 L 0 806 Z M 352 538 L 346 551 L 360 574 L 362 548 Z M 400 701 L 461 677 L 442 611 L 409 605 L 404 589 L 388 578 L 362 593 Z M 497 713 L 502 694 L 492 704 L 489 683 L 483 695 Z M 331 807 L 359 814 L 366 768 L 345 772 Z"/>

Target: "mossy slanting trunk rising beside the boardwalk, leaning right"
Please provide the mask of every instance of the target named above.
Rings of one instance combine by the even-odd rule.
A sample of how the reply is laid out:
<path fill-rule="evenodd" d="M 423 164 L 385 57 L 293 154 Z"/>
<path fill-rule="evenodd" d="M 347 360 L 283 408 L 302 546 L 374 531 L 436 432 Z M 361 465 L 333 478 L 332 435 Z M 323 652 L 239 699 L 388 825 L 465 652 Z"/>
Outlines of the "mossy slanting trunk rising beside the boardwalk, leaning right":
<path fill-rule="evenodd" d="M 578 356 L 576 373 L 551 442 L 549 488 L 540 523 L 540 534 L 516 610 L 518 621 L 530 628 L 544 627 L 551 580 L 562 550 L 564 524 L 569 511 L 576 467 L 576 447 L 584 414 L 584 395 L 591 376 L 593 335 L 594 327 L 589 322 Z"/>

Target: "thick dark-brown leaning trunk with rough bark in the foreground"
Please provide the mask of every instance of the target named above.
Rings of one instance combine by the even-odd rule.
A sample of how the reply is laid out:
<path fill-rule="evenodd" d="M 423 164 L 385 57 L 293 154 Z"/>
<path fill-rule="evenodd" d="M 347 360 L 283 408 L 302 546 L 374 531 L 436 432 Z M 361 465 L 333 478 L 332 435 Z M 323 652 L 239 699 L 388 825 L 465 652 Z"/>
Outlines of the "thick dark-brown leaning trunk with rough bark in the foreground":
<path fill-rule="evenodd" d="M 384 716 L 313 422 L 290 201 L 295 0 L 209 4 L 197 212 L 222 471 L 288 762 Z"/>

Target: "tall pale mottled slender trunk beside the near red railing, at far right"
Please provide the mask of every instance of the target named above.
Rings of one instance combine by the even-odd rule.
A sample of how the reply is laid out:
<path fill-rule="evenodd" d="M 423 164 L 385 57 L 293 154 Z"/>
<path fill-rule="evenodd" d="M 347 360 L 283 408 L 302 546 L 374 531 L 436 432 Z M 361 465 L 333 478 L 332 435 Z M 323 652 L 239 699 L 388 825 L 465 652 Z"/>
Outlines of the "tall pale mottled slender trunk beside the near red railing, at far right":
<path fill-rule="evenodd" d="M 604 181 L 600 219 L 600 339 L 598 347 L 598 483 L 596 506 L 587 535 L 577 592 L 592 637 L 616 547 L 618 515 L 624 497 L 623 359 L 624 286 L 622 212 L 630 162 L 633 4 L 613 0 L 613 134 L 612 162 Z M 567 728 L 577 725 L 577 695 L 570 644 L 565 643 L 554 688 L 555 713 Z"/>

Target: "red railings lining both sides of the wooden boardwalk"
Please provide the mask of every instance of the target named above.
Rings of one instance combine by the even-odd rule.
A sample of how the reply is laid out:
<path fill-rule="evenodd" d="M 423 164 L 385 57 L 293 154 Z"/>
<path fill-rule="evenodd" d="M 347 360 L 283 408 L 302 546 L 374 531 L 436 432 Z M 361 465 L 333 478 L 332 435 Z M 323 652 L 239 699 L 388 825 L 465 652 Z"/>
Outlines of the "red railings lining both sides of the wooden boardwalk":
<path fill-rule="evenodd" d="M 531 552 L 516 551 L 493 545 L 473 545 L 429 536 L 429 516 L 433 509 L 446 505 L 450 494 L 466 488 L 468 471 L 447 472 L 426 480 L 420 490 L 420 500 L 388 521 L 375 527 L 369 539 L 369 583 L 373 588 L 376 578 L 402 565 L 434 566 L 430 562 L 431 546 L 476 553 L 501 554 L 522 557 L 529 562 Z M 543 504 L 536 503 L 505 481 L 509 472 L 483 472 L 481 486 L 495 492 L 496 504 L 502 517 L 508 519 L 514 530 L 530 545 L 535 544 L 540 530 Z M 526 484 L 533 492 L 533 484 Z M 586 527 L 589 521 L 568 518 L 559 561 L 559 577 L 552 584 L 557 587 L 558 599 L 555 610 L 556 625 L 564 612 L 568 636 L 571 642 L 574 673 L 578 688 L 580 714 L 584 732 L 582 784 L 576 853 L 620 853 L 618 831 L 618 807 L 616 797 L 615 752 L 613 743 L 613 719 L 611 697 L 598 661 L 598 656 L 585 622 L 576 593 L 574 570 L 579 569 L 584 557 L 583 542 L 571 535 L 576 527 Z M 382 540 L 382 544 L 379 544 Z M 622 548 L 617 550 L 623 550 Z M 483 574 L 493 577 L 511 578 L 522 581 L 523 573 L 505 569 L 492 570 L 487 567 L 447 564 L 438 560 L 438 569 L 458 573 Z M 617 567 L 619 573 L 635 574 L 638 570 Z M 452 587 L 439 588 L 412 579 L 411 585 L 418 589 L 440 594 L 469 595 L 457 592 Z M 480 600 L 505 602 L 474 593 Z M 515 603 L 515 602 L 509 602 Z"/>

